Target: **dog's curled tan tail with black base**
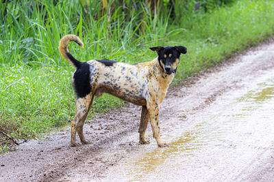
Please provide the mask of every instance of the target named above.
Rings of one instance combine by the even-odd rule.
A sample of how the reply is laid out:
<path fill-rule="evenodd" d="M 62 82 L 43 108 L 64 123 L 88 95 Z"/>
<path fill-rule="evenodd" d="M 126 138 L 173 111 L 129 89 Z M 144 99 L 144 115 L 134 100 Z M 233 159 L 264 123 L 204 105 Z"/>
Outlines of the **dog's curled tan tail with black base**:
<path fill-rule="evenodd" d="M 59 51 L 60 51 L 61 55 L 64 57 L 64 59 L 68 60 L 69 63 L 71 63 L 71 65 L 73 65 L 73 67 L 78 68 L 78 67 L 80 67 L 80 65 L 82 63 L 80 61 L 78 61 L 77 59 L 75 59 L 71 55 L 71 53 L 69 53 L 69 50 L 68 50 L 68 45 L 69 45 L 69 42 L 71 42 L 71 41 L 76 42 L 81 47 L 84 47 L 83 42 L 76 35 L 65 35 L 60 40 Z"/>

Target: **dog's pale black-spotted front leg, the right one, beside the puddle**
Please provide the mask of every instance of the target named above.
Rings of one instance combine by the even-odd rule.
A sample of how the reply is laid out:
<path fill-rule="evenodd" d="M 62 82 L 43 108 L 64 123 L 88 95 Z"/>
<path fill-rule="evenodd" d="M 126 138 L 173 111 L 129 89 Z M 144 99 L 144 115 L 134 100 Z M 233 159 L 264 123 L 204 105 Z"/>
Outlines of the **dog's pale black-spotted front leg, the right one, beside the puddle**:
<path fill-rule="evenodd" d="M 160 125 L 159 125 L 159 105 L 153 104 L 149 107 L 149 118 L 153 137 L 156 139 L 158 147 L 168 147 L 169 145 L 162 141 L 160 137 Z"/>

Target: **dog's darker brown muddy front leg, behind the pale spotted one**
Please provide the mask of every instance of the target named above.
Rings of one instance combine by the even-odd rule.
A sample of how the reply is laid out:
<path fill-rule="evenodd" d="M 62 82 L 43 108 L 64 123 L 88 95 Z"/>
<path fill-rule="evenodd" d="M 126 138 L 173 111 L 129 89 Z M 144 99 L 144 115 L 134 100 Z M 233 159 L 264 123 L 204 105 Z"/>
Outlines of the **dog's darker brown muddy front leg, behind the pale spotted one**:
<path fill-rule="evenodd" d="M 149 140 L 145 140 L 145 131 L 147 130 L 147 123 L 149 123 L 149 111 L 146 106 L 142 106 L 141 121 L 138 132 L 140 133 L 140 144 L 147 144 Z"/>

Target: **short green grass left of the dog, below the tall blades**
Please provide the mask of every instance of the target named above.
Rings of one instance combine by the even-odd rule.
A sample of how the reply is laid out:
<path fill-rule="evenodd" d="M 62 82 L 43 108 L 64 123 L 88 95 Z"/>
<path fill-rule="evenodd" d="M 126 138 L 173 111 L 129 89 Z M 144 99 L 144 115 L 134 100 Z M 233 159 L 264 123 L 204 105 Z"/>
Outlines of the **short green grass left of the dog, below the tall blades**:
<path fill-rule="evenodd" d="M 5 121 L 6 127 L 13 130 L 12 137 L 35 137 L 72 119 L 75 97 L 69 68 L 47 66 L 34 70 L 14 66 L 1 69 L 0 97 L 4 103 L 0 105 L 1 122 Z M 123 104 L 105 96 L 94 101 L 96 108 L 92 108 L 91 116 Z M 12 123 L 14 125 L 10 125 Z"/>

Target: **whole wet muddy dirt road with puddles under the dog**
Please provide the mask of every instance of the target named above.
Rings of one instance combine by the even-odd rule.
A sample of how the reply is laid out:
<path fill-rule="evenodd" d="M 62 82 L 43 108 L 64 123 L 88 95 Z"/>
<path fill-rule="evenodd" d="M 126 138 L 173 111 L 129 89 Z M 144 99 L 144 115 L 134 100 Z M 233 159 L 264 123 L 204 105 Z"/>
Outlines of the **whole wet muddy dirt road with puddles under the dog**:
<path fill-rule="evenodd" d="M 0 181 L 274 181 L 274 43 L 247 50 L 180 87 L 160 106 L 158 148 L 149 125 L 138 144 L 132 104 L 87 121 L 91 145 L 70 129 L 0 157 Z M 77 138 L 79 142 L 79 138 Z"/>

